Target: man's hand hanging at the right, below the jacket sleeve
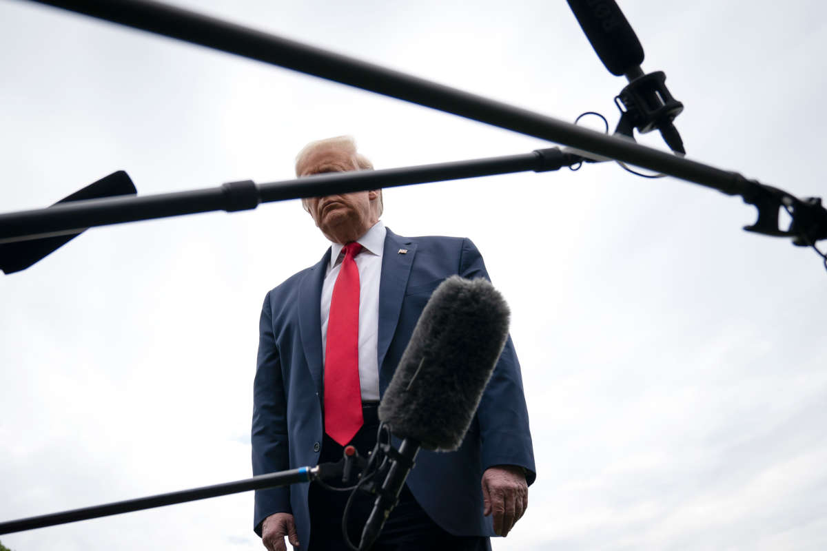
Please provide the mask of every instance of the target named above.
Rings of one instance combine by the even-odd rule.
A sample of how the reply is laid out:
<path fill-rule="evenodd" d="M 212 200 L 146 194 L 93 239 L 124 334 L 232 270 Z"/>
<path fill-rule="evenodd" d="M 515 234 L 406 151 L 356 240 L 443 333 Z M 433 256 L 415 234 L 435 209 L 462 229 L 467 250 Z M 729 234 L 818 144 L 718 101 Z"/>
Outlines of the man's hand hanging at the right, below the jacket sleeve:
<path fill-rule="evenodd" d="M 482 474 L 485 516 L 494 513 L 494 532 L 506 536 L 528 508 L 528 484 L 522 467 L 497 465 Z"/>

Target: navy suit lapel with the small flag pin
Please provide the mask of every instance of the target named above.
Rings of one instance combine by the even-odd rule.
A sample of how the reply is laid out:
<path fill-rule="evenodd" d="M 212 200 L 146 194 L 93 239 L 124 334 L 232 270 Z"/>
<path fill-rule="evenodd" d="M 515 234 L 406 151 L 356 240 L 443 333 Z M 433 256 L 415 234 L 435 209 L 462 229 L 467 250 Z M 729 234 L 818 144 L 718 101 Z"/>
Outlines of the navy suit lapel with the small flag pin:
<path fill-rule="evenodd" d="M 400 250 L 406 252 L 401 254 Z M 382 362 L 385 361 L 385 354 L 388 353 L 390 341 L 393 340 L 396 325 L 399 322 L 399 311 L 402 310 L 405 287 L 408 286 L 415 255 L 416 244 L 388 230 L 385 235 L 382 275 L 379 283 L 379 335 L 376 351 L 379 354 L 380 373 Z"/>

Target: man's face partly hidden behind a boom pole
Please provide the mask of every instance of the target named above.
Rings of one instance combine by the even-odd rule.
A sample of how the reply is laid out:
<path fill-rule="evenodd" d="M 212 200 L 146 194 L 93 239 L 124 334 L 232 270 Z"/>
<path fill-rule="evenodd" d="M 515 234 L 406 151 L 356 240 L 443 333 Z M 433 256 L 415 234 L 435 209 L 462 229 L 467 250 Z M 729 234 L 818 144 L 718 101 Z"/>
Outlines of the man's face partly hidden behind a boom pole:
<path fill-rule="evenodd" d="M 314 150 L 299 165 L 299 176 L 357 170 L 354 155 L 337 147 Z M 377 217 L 370 202 L 378 197 L 376 191 L 343 193 L 312 197 L 304 205 L 313 216 L 316 226 L 328 240 L 347 243 L 361 237 L 373 226 Z"/>

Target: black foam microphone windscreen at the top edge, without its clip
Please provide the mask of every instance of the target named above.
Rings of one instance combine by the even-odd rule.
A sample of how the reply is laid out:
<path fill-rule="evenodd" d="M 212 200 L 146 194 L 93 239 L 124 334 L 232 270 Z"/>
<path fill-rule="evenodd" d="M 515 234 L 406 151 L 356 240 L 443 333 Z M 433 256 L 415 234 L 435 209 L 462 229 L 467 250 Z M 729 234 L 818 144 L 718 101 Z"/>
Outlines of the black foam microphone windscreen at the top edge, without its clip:
<path fill-rule="evenodd" d="M 614 0 L 568 2 L 609 73 L 622 77 L 643 64 L 643 46 Z"/>

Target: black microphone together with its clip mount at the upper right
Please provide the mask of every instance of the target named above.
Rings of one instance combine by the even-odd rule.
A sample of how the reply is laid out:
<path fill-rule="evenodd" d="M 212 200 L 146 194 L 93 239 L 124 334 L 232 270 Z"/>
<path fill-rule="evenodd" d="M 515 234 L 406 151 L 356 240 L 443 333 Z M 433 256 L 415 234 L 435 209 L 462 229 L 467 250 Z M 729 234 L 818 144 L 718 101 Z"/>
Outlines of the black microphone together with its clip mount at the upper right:
<path fill-rule="evenodd" d="M 643 46 L 614 0 L 566 0 L 600 61 L 616 76 L 625 75 L 629 86 L 619 99 L 625 111 L 615 134 L 633 137 L 633 128 L 645 134 L 657 128 L 672 151 L 686 154 L 681 135 L 672 121 L 683 104 L 669 92 L 666 74 L 643 74 Z"/>

